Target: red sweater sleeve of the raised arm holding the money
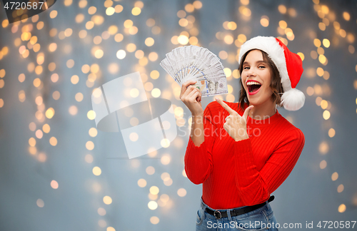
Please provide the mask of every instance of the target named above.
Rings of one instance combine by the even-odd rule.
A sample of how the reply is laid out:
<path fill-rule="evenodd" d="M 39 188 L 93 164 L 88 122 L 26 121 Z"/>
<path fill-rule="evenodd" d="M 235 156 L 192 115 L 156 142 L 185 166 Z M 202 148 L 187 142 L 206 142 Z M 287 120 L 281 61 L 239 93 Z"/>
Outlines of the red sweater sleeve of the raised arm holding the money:
<path fill-rule="evenodd" d="M 184 163 L 187 178 L 198 185 L 203 183 L 213 168 L 212 148 L 216 138 L 216 125 L 213 124 L 209 104 L 203 112 L 204 141 L 196 146 L 191 135 L 186 148 Z"/>

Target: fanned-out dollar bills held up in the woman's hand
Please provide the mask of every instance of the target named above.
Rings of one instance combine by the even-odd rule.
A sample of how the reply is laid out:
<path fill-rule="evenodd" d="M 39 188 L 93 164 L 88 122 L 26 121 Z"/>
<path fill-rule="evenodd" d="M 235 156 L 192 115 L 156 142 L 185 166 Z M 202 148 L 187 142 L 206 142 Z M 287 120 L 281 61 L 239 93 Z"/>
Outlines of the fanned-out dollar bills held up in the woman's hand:
<path fill-rule="evenodd" d="M 196 80 L 193 86 L 201 91 L 201 96 L 228 93 L 227 78 L 219 58 L 198 46 L 181 46 L 166 53 L 160 65 L 182 86 L 188 80 Z"/>

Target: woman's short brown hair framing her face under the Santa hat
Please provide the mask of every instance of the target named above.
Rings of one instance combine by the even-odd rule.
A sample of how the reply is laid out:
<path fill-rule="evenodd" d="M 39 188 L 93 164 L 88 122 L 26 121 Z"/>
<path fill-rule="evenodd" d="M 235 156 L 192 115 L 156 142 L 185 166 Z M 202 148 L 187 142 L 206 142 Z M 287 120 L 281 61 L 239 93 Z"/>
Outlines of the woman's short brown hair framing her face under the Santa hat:
<path fill-rule="evenodd" d="M 244 53 L 244 55 L 241 58 L 241 63 L 239 64 L 239 74 L 241 75 L 243 71 L 243 62 L 246 60 L 246 56 L 248 55 L 249 52 L 253 50 L 258 50 L 258 49 L 251 49 Z M 258 50 L 261 51 L 261 50 Z M 268 56 L 268 54 L 264 51 L 261 51 L 261 54 L 263 55 L 263 61 L 268 63 L 268 66 L 270 67 L 271 71 L 271 83 L 270 83 L 270 88 L 271 91 L 273 91 L 273 95 L 271 96 L 271 99 L 273 100 L 274 103 L 276 103 L 279 107 L 281 107 L 281 97 L 279 94 L 283 93 L 283 85 L 281 84 L 281 78 L 280 74 L 278 71 L 278 68 L 276 67 L 275 63 L 271 60 L 271 58 Z M 240 91 L 240 96 L 239 96 L 239 106 L 240 108 L 244 111 L 244 103 L 248 103 L 248 96 L 246 93 L 246 90 L 244 90 L 243 83 L 241 81 L 241 91 Z"/>

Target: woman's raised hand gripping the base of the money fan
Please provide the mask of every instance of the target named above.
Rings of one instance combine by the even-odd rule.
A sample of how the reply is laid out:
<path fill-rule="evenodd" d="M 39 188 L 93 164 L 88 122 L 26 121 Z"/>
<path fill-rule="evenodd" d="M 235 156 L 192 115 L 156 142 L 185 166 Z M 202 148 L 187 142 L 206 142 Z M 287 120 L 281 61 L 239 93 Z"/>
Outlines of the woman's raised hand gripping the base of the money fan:
<path fill-rule="evenodd" d="M 203 108 L 201 106 L 201 91 L 198 88 L 191 86 L 197 81 L 190 80 L 182 84 L 180 99 L 187 108 L 191 111 L 192 116 L 203 115 Z"/>

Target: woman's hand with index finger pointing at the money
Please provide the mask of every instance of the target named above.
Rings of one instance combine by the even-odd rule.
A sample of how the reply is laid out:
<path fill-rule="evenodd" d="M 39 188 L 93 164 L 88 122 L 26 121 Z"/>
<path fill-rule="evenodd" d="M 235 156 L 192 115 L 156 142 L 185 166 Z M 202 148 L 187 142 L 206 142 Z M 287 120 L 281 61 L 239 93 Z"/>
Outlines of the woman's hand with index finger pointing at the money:
<path fill-rule="evenodd" d="M 216 101 L 221 104 L 221 106 L 228 111 L 230 114 L 226 117 L 226 123 L 223 124 L 224 130 L 233 138 L 235 141 L 248 139 L 248 133 L 246 131 L 246 120 L 248 113 L 253 108 L 253 106 L 248 106 L 243 113 L 243 116 L 240 116 L 236 111 L 230 108 L 226 103 L 221 101 L 219 98 L 216 98 Z"/>

